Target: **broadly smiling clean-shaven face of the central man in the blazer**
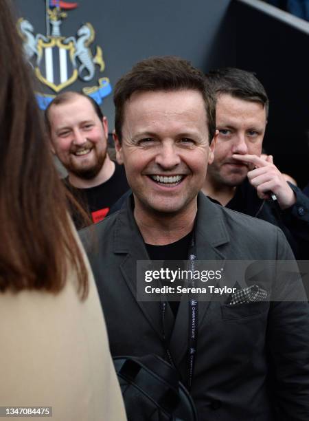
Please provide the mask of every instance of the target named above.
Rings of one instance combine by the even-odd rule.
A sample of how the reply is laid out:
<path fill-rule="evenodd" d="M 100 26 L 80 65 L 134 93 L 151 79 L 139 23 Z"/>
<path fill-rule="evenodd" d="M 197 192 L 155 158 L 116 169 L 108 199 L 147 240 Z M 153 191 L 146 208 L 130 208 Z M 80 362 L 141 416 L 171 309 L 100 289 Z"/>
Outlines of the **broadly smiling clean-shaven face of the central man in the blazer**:
<path fill-rule="evenodd" d="M 136 92 L 124 107 L 122 143 L 115 140 L 141 212 L 181 213 L 196 206 L 214 145 L 209 147 L 198 91 Z"/>

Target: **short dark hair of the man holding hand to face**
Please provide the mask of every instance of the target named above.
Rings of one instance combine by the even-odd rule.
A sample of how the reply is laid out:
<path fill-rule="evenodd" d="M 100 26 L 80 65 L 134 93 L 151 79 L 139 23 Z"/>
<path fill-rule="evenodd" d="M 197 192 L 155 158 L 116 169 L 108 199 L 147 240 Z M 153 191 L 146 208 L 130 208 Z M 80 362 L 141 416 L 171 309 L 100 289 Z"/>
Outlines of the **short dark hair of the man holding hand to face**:
<path fill-rule="evenodd" d="M 268 116 L 268 96 L 254 73 L 236 67 L 223 67 L 206 74 L 207 83 L 215 96 L 229 94 L 245 101 L 260 102 Z"/>

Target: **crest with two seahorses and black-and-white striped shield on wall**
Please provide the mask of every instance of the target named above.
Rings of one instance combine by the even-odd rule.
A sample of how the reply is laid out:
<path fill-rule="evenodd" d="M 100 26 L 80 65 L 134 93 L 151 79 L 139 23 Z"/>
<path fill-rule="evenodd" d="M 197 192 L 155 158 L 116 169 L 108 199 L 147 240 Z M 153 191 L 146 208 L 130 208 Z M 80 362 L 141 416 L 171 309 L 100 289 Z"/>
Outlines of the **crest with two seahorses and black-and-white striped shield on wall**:
<path fill-rule="evenodd" d="M 27 19 L 19 19 L 17 25 L 23 39 L 23 50 L 27 61 L 34 68 L 38 80 L 52 89 L 56 94 L 73 84 L 78 78 L 89 83 L 95 76 L 96 69 L 104 72 L 102 48 L 96 46 L 95 52 L 91 44 L 95 39 L 95 31 L 91 23 L 80 26 L 77 36 L 62 36 L 60 27 L 67 17 L 63 10 L 78 7 L 77 3 L 60 0 L 46 1 L 46 35 L 34 34 L 34 28 Z M 98 85 L 82 89 L 99 104 L 111 93 L 108 78 L 101 77 Z M 55 95 L 37 94 L 41 108 L 46 108 Z"/>

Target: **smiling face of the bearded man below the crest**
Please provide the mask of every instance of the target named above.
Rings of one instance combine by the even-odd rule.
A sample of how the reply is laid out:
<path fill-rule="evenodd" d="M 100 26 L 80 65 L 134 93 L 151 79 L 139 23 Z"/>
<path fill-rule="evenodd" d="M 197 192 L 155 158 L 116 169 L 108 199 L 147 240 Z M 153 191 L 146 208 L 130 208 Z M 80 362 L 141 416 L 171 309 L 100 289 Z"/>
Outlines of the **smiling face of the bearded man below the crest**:
<path fill-rule="evenodd" d="M 80 178 L 91 179 L 106 158 L 108 127 L 91 102 L 74 96 L 69 102 L 49 109 L 52 150 L 67 169 Z"/>

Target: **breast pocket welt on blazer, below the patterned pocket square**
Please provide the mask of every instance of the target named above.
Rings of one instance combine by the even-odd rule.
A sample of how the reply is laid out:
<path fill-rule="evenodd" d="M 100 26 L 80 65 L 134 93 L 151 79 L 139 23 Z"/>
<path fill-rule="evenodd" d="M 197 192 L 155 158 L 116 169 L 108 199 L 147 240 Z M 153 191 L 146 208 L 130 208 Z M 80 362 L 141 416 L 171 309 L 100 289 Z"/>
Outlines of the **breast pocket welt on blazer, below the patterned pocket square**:
<path fill-rule="evenodd" d="M 268 311 L 267 301 L 255 301 L 236 305 L 222 304 L 221 313 L 223 320 L 250 319 L 260 316 Z"/>

